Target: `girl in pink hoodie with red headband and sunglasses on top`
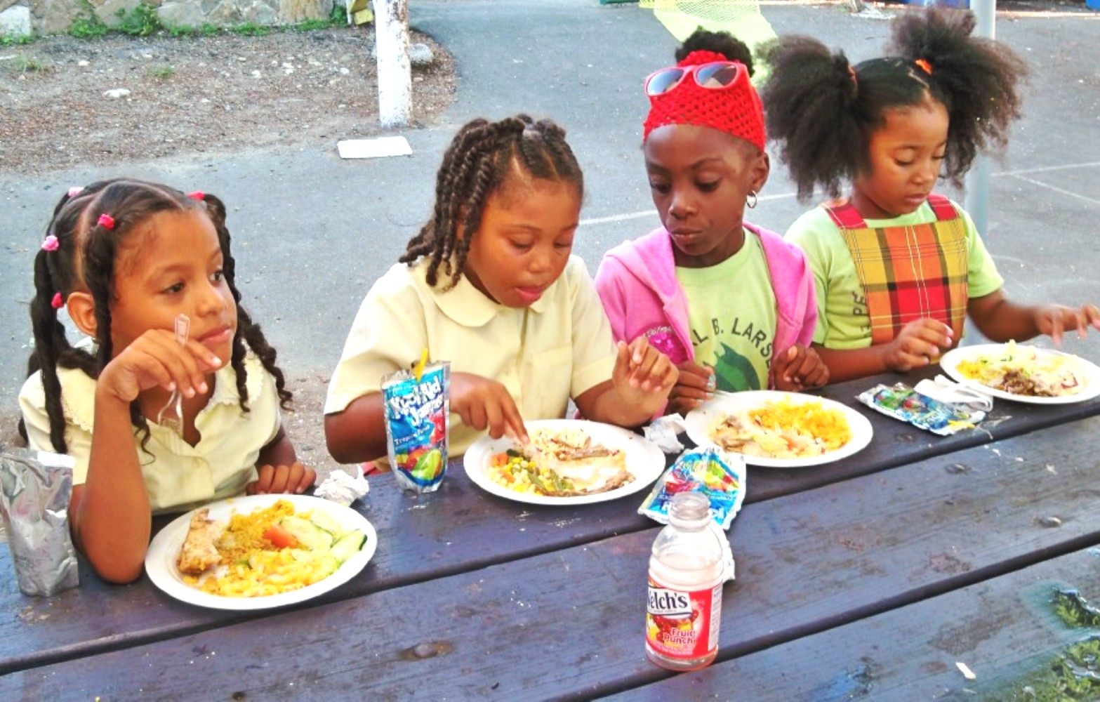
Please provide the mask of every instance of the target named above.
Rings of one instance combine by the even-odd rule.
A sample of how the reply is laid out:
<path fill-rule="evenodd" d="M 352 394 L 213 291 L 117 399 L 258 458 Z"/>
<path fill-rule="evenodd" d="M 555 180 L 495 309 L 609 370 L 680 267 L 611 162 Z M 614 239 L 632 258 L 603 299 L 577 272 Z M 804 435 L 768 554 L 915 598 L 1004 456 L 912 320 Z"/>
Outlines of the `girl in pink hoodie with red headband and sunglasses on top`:
<path fill-rule="evenodd" d="M 663 227 L 609 251 L 596 273 L 612 332 L 678 364 L 669 412 L 715 388 L 824 385 L 802 252 L 743 220 L 770 168 L 751 53 L 698 30 L 676 59 L 646 81 L 646 173 Z"/>

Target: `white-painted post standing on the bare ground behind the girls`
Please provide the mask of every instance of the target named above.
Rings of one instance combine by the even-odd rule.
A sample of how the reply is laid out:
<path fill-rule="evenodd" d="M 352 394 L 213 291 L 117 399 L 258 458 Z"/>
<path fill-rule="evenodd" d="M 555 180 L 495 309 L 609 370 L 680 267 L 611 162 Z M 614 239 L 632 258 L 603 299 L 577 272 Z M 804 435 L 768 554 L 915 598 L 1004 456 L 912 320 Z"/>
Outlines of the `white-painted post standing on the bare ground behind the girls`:
<path fill-rule="evenodd" d="M 374 0 L 374 50 L 378 121 L 383 127 L 407 127 L 413 103 L 408 0 Z"/>

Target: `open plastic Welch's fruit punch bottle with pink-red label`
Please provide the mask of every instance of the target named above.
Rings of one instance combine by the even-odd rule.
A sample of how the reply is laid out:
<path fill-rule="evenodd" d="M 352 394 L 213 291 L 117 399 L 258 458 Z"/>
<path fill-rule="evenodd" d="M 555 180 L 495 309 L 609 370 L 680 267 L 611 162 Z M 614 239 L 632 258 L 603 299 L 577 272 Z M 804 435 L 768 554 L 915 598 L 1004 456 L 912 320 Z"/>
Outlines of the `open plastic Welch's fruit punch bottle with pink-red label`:
<path fill-rule="evenodd" d="M 723 535 L 711 526 L 710 501 L 679 493 L 669 524 L 653 541 L 646 606 L 646 657 L 670 670 L 710 665 L 722 621 Z"/>

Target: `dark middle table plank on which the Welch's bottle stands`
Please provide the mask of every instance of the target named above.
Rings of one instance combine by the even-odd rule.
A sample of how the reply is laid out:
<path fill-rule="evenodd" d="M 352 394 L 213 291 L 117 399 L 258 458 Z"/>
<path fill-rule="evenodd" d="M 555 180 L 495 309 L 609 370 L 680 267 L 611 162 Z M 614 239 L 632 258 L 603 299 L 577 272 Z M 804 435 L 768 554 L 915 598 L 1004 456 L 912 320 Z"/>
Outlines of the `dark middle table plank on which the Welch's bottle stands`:
<path fill-rule="evenodd" d="M 781 645 L 1100 541 L 1098 429 L 1100 419 L 1090 419 L 745 507 L 732 528 L 739 578 L 725 593 L 722 657 Z M 1060 526 L 1043 526 L 1052 516 Z M 14 672 L 0 680 L 0 694 L 615 692 L 667 677 L 642 657 L 646 559 L 654 535 L 650 528 Z M 491 541 L 482 546 L 493 548 Z M 430 641 L 439 643 L 440 655 L 409 658 L 413 647 Z M 123 668 L 131 672 L 119 680 Z"/>

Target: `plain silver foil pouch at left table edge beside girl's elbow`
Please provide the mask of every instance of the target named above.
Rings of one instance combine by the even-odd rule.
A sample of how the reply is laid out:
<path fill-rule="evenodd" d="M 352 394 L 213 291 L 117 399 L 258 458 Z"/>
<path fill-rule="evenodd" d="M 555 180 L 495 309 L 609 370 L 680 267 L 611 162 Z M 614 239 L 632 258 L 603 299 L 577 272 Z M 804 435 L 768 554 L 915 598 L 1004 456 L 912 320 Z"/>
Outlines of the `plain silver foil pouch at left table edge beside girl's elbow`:
<path fill-rule="evenodd" d="M 0 515 L 23 594 L 45 596 L 80 584 L 69 535 L 73 458 L 0 450 Z"/>

